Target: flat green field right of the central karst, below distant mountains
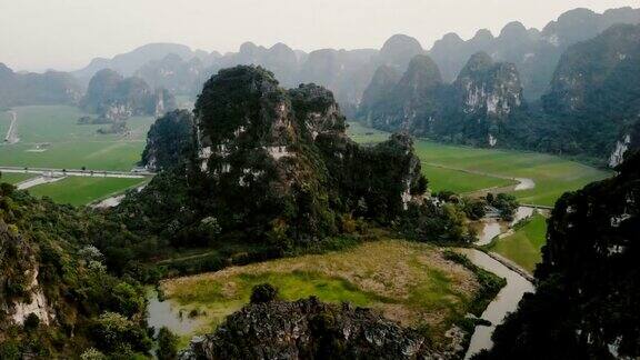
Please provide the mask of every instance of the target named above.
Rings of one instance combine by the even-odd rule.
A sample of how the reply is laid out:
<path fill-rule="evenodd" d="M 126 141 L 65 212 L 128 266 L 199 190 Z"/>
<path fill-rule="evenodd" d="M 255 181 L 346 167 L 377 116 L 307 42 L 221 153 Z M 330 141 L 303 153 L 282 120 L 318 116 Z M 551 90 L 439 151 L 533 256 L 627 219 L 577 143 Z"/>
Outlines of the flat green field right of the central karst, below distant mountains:
<path fill-rule="evenodd" d="M 352 122 L 349 133 L 361 143 L 379 142 L 388 138 L 386 132 Z M 537 152 L 478 149 L 423 139 L 417 139 L 414 147 L 424 174 L 430 180 L 430 188 L 434 191 L 469 193 L 512 184 L 512 180 L 504 178 L 529 178 L 536 182 L 536 187 L 516 191 L 518 199 L 522 203 L 553 206 L 563 192 L 580 189 L 612 174 L 611 171 Z"/>

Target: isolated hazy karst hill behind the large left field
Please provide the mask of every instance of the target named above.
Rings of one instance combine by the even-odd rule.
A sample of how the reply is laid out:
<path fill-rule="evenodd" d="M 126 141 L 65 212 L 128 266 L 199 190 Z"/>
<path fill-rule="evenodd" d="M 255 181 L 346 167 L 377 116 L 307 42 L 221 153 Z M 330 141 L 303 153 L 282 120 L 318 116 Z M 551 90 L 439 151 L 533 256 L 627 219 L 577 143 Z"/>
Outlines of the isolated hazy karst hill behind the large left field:
<path fill-rule="evenodd" d="M 123 78 L 106 69 L 89 82 L 81 107 L 117 122 L 133 116 L 160 116 L 174 109 L 176 100 L 164 89 L 152 90 L 140 78 Z"/>

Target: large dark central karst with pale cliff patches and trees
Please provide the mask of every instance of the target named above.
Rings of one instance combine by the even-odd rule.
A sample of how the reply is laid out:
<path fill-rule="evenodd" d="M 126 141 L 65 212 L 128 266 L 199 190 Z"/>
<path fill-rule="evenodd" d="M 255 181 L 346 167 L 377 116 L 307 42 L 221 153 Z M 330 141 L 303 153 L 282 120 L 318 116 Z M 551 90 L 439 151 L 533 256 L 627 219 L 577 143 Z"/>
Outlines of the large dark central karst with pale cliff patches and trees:
<path fill-rule="evenodd" d="M 389 221 L 418 194 L 411 142 L 399 137 L 361 149 L 321 87 L 287 91 L 261 68 L 221 70 L 204 86 L 196 116 L 201 168 L 226 230 L 317 241 L 337 232 L 342 213 L 383 209 L 377 216 Z M 393 166 L 374 171 L 382 163 Z M 367 184 L 381 191 L 367 192 Z"/>

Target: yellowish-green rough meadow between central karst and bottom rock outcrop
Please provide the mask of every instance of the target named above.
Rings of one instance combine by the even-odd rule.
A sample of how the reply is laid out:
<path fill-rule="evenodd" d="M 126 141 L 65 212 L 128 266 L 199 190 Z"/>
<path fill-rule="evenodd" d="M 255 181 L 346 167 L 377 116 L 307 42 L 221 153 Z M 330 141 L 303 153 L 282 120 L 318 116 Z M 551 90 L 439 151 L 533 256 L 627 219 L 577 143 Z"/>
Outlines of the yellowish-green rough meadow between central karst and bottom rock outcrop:
<path fill-rule="evenodd" d="M 166 280 L 161 288 L 183 313 L 201 313 L 194 333 L 202 333 L 244 306 L 252 287 L 263 282 L 277 287 L 284 300 L 350 301 L 406 326 L 426 324 L 434 341 L 444 341 L 443 333 L 471 311 L 480 289 L 476 274 L 446 260 L 441 249 L 401 240 L 232 267 Z"/>

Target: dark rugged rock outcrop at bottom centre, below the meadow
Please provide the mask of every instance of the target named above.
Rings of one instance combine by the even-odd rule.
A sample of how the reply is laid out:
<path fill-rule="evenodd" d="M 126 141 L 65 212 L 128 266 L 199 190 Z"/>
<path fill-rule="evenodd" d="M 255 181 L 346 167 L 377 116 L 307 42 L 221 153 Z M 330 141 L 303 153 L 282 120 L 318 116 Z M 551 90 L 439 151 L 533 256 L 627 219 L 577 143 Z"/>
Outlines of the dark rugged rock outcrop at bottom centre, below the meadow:
<path fill-rule="evenodd" d="M 192 340 L 188 359 L 421 359 L 431 358 L 419 333 L 369 309 L 317 298 L 254 303 L 231 314 L 212 334 Z"/>

